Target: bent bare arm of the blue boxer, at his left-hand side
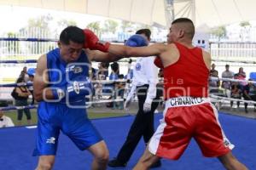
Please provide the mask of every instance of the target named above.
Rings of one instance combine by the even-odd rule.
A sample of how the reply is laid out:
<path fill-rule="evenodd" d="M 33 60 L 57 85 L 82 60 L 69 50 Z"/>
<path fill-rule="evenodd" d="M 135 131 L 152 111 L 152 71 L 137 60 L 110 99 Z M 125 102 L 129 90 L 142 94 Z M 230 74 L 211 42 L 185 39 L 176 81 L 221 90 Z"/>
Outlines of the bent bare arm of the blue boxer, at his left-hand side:
<path fill-rule="evenodd" d="M 34 98 L 37 101 L 46 99 L 54 99 L 52 91 L 50 88 L 47 88 L 47 82 L 49 80 L 47 73 L 47 58 L 46 55 L 42 55 L 38 59 L 38 65 L 36 69 L 36 75 L 33 80 L 33 93 Z"/>

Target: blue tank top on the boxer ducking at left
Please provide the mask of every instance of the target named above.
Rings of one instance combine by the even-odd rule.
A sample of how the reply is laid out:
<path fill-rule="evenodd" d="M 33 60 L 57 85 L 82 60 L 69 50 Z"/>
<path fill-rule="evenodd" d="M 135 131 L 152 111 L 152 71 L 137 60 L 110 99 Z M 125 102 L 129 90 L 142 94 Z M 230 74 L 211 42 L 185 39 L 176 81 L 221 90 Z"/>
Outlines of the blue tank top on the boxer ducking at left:
<path fill-rule="evenodd" d="M 51 50 L 47 54 L 49 87 L 66 87 L 67 83 L 72 81 L 75 77 L 88 77 L 89 66 L 89 60 L 84 51 L 82 51 L 80 54 L 79 59 L 72 63 L 66 63 L 63 59 L 61 59 L 60 48 Z M 66 99 L 61 99 L 61 103 L 66 104 Z M 85 105 L 85 98 L 79 103 Z"/>

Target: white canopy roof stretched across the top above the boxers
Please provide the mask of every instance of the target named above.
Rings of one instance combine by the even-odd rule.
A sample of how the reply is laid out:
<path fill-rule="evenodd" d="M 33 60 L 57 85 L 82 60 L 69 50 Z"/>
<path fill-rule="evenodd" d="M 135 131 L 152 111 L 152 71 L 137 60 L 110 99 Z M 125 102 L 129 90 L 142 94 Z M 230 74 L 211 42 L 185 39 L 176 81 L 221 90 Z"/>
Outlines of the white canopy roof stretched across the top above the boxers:
<path fill-rule="evenodd" d="M 165 27 L 178 17 L 210 27 L 256 20 L 255 0 L 0 0 L 0 5 L 96 14 Z"/>

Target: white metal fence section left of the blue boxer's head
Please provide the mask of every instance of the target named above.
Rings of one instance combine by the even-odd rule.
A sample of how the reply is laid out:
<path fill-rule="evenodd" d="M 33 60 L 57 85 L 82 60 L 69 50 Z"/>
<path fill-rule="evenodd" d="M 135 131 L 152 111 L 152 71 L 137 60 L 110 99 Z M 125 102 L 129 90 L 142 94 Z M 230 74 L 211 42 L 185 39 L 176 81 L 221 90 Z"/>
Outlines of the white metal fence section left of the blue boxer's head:
<path fill-rule="evenodd" d="M 55 37 L 38 28 L 0 37 L 0 59 L 37 59 L 56 47 Z"/>

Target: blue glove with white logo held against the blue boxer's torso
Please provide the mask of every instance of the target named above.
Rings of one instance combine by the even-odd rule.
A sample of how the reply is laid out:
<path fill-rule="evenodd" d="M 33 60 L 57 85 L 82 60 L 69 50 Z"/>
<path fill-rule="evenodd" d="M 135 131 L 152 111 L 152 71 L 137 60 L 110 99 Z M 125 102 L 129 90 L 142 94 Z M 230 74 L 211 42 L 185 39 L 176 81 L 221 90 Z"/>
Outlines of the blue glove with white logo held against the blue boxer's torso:
<path fill-rule="evenodd" d="M 54 99 L 66 99 L 76 101 L 84 99 L 86 95 L 91 94 L 93 85 L 90 82 L 89 77 L 79 76 L 73 78 L 67 83 L 67 87 L 63 88 L 52 88 Z"/>

